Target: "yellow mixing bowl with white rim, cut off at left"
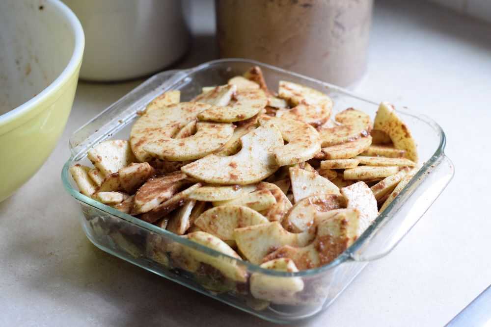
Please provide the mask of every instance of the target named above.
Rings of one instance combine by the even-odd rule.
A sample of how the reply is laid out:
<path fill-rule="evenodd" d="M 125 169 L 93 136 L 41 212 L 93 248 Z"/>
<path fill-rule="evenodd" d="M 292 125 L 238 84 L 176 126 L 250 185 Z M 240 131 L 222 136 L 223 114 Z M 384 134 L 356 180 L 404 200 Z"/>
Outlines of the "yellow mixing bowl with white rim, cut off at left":
<path fill-rule="evenodd" d="M 58 0 L 0 1 L 0 201 L 55 148 L 72 108 L 84 36 Z"/>

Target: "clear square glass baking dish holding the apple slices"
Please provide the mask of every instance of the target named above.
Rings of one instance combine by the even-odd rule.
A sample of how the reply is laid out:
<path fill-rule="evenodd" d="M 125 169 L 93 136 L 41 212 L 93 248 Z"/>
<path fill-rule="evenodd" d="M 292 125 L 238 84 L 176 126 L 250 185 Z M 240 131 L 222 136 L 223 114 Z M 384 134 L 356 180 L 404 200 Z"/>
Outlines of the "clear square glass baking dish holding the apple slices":
<path fill-rule="evenodd" d="M 154 75 L 82 126 L 70 138 L 72 155 L 63 166 L 61 178 L 67 192 L 81 205 L 80 222 L 87 238 L 103 251 L 263 319 L 291 323 L 327 309 L 368 262 L 386 255 L 397 245 L 450 182 L 454 167 L 443 152 L 445 135 L 433 120 L 407 109 L 398 110 L 418 144 L 423 162 L 421 169 L 349 249 L 326 266 L 298 273 L 262 269 L 92 200 L 78 191 L 69 174 L 70 166 L 90 163 L 87 151 L 99 142 L 109 138 L 128 139 L 137 112 L 161 93 L 180 90 L 181 101 L 189 101 L 201 93 L 203 86 L 225 84 L 230 77 L 242 75 L 252 65 L 261 67 L 273 90 L 279 80 L 293 81 L 327 93 L 334 101 L 333 114 L 355 107 L 375 117 L 379 102 L 363 99 L 334 85 L 251 60 L 215 60 L 188 70 Z M 275 298 L 283 297 L 283 303 L 254 298 L 249 278 L 231 280 L 207 264 L 190 269 L 182 260 L 170 255 L 169 249 L 175 247 L 199 252 L 208 262 L 222 260 L 234 269 L 245 271 L 248 277 L 269 278 L 271 289 L 268 291 L 275 294 Z M 278 285 L 288 283 L 300 283 L 301 290 L 294 295 L 284 293 L 283 286 Z"/>

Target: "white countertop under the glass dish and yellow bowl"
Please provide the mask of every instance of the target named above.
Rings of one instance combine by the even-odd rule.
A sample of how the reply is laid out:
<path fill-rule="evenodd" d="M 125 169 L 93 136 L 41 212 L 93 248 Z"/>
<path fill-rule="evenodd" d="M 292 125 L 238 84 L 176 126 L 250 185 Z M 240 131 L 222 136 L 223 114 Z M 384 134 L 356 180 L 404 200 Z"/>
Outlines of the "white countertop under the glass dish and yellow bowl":
<path fill-rule="evenodd" d="M 409 2 L 378 2 L 368 72 L 355 91 L 435 119 L 456 175 L 397 248 L 307 326 L 442 326 L 491 282 L 491 25 Z M 214 58 L 209 40 L 198 38 L 181 67 Z M 86 239 L 60 180 L 69 135 L 140 82 L 81 82 L 53 154 L 0 203 L 0 326 L 272 325 Z"/>

